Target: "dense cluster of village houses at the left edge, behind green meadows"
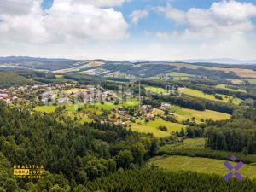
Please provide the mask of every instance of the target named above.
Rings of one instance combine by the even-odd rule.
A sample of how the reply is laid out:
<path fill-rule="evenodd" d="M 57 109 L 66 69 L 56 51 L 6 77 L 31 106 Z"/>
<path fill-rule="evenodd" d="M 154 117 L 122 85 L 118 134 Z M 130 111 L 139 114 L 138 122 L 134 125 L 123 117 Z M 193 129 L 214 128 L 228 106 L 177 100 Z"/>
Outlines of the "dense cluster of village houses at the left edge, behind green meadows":
<path fill-rule="evenodd" d="M 27 94 L 30 96 L 28 97 Z M 0 90 L 0 100 L 8 104 L 33 102 L 39 105 L 73 102 L 113 102 L 117 94 L 100 86 L 78 84 L 36 84 Z"/>

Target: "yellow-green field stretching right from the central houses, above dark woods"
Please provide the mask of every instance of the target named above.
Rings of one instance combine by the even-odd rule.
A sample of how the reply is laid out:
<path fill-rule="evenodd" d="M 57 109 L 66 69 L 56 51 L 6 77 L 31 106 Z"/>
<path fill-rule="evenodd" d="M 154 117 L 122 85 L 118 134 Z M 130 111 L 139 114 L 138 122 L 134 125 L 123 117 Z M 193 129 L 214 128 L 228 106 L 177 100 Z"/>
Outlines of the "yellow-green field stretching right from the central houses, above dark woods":
<path fill-rule="evenodd" d="M 201 119 L 224 120 L 231 118 L 231 115 L 226 113 L 220 113 L 211 110 L 197 111 L 194 109 L 181 108 L 173 105 L 170 110 L 172 113 L 175 113 L 175 116 L 179 122 L 191 119 L 192 117 L 195 117 L 196 123 L 201 123 Z"/>

